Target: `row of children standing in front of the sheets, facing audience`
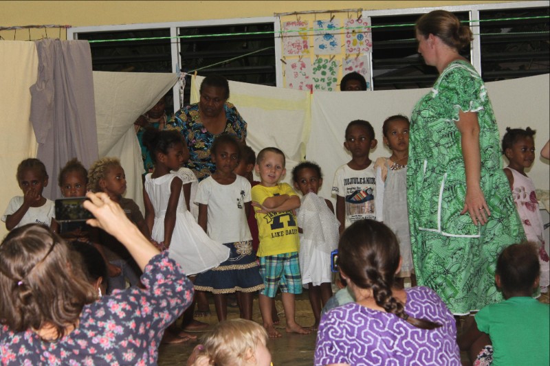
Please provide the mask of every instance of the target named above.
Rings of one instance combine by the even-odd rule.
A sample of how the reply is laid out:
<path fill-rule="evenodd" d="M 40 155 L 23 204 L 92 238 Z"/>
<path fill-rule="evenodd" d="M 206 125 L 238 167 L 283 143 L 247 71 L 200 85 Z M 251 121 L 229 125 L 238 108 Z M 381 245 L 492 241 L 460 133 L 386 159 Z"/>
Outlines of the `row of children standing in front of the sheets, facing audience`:
<path fill-rule="evenodd" d="M 273 298 L 281 289 L 286 331 L 307 334 L 310 329 L 295 321 L 294 296 L 302 293 L 303 286 L 309 288 L 316 329 L 321 306 L 332 295 L 330 253 L 338 246 L 339 234 L 357 220 L 383 220 L 395 232 L 403 260 L 397 277 L 411 277 L 415 284 L 406 208 L 408 131 L 407 117 L 388 117 L 382 133 L 392 154 L 373 163 L 369 159 L 377 144 L 373 127 L 363 120 L 349 123 L 344 148 L 351 153 L 351 161 L 338 168 L 332 186 L 336 215 L 331 201 L 317 196 L 322 185 L 319 165 L 307 161 L 292 171 L 294 188 L 303 196 L 300 199 L 293 187 L 280 183 L 286 172 L 281 150 L 264 148 L 255 159 L 250 147 L 225 134 L 219 135 L 211 148 L 216 171 L 197 185 L 193 199 L 191 185 L 197 179 L 181 168 L 189 152 L 180 135 L 167 130 L 144 133 L 144 144 L 155 164 L 155 170 L 144 179 L 145 216 L 133 201 L 122 197 L 126 180 L 118 159 L 100 159 L 89 172 L 73 159 L 58 181 L 64 196 L 84 196 L 86 190 L 109 194 L 147 238 L 169 250 L 170 257 L 192 276 L 197 290 L 214 295 L 220 321 L 227 317 L 228 293 L 237 294 L 241 317 L 252 319 L 253 294 L 259 291 L 267 334 L 281 336 L 274 328 L 273 316 Z M 530 128 L 508 128 L 503 153 L 510 162 L 505 172 L 527 238 L 538 244 L 540 286 L 546 288 L 549 258 L 534 186 L 525 174 L 534 160 L 533 135 Z M 252 170 L 259 175 L 259 182 L 253 181 Z M 12 198 L 5 210 L 2 220 L 6 227 L 11 230 L 39 222 L 58 230 L 54 204 L 42 196 L 48 183 L 43 163 L 38 159 L 22 161 L 17 181 L 23 196 Z M 199 206 L 198 222 L 190 213 L 193 204 Z M 98 230 L 65 234 L 98 247 L 107 262 L 109 292 L 124 288 L 126 278 L 133 285 L 140 283 L 139 269 L 115 238 Z"/>

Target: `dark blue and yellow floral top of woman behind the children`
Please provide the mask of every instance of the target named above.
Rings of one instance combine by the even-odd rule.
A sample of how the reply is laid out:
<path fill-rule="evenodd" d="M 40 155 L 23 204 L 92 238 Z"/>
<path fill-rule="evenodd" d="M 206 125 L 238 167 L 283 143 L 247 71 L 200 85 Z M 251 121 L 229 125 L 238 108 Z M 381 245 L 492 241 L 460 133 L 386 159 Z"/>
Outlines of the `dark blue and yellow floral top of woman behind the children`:
<path fill-rule="evenodd" d="M 245 120 L 231 103 L 225 102 L 223 110 L 225 119 L 227 119 L 223 133 L 234 135 L 239 141 L 243 141 L 246 138 L 247 124 Z M 185 106 L 177 111 L 166 128 L 178 130 L 187 141 L 190 158 L 186 167 L 195 173 L 199 181 L 210 176 L 216 170 L 216 165 L 210 159 L 210 146 L 217 135 L 208 132 L 201 123 L 198 103 Z"/>

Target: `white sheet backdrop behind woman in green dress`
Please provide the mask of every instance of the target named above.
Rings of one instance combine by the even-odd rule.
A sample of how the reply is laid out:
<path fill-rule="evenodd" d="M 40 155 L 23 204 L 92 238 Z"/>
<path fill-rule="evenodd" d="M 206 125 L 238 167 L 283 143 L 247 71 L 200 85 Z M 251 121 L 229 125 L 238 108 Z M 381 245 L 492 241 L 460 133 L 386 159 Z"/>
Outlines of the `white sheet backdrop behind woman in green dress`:
<path fill-rule="evenodd" d="M 312 98 L 311 136 L 307 143 L 307 159 L 316 161 L 322 168 L 325 180 L 320 195 L 331 197 L 334 172 L 351 159 L 344 149 L 344 131 L 353 119 L 366 119 L 375 130 L 378 145 L 371 150 L 371 159 L 390 156 L 382 142 L 382 122 L 386 117 L 403 114 L 410 117 L 412 108 L 430 89 L 399 91 L 358 91 L 347 93 L 315 92 Z M 549 139 L 549 75 L 514 80 L 487 82 L 500 137 L 507 126 L 530 126 L 537 130 L 535 145 L 538 149 Z M 249 122 L 250 124 L 250 122 Z M 507 162 L 505 162 L 505 166 Z M 530 172 L 539 189 L 549 189 L 549 164 L 538 157 Z"/>

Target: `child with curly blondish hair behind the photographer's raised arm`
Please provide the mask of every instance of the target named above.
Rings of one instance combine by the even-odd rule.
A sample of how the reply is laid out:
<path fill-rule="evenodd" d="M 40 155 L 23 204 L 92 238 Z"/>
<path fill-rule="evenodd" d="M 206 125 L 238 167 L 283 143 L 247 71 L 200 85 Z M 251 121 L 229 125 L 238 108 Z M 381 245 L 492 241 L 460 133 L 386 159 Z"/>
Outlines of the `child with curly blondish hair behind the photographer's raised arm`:
<path fill-rule="evenodd" d="M 126 192 L 126 175 L 120 165 L 120 160 L 114 157 L 104 157 L 93 163 L 88 172 L 88 189 L 91 192 L 107 193 L 112 201 L 124 209 L 126 216 L 140 229 L 143 235 L 146 238 L 151 237 L 140 207 L 137 207 L 130 198 L 122 197 L 122 194 Z M 102 245 L 108 265 L 112 264 L 120 268 L 120 272 L 110 271 L 109 273 L 109 295 L 113 290 L 126 288 L 126 278 L 132 286 L 140 284 L 140 268 L 122 243 L 101 229 L 93 229 L 90 238 L 91 242 Z"/>

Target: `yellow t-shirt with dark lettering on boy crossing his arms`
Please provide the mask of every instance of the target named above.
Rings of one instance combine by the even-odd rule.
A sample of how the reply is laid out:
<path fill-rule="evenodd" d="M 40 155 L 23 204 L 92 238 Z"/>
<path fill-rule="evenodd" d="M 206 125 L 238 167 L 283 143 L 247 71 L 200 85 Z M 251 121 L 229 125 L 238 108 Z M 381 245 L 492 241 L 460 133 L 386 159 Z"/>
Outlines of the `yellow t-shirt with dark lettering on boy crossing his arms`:
<path fill-rule="evenodd" d="M 274 187 L 265 187 L 261 184 L 252 187 L 252 201 L 261 204 L 266 198 L 281 196 L 283 194 L 296 196 L 292 187 L 287 183 L 279 183 Z M 259 210 L 259 208 L 255 209 L 256 211 Z M 296 216 L 294 216 L 292 211 L 270 212 L 269 214 L 259 214 L 256 212 L 255 217 L 258 222 L 260 239 L 257 253 L 259 257 L 298 251 L 300 248 L 300 238 L 298 238 Z"/>

